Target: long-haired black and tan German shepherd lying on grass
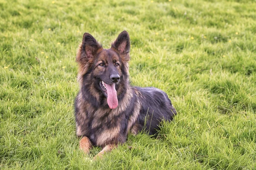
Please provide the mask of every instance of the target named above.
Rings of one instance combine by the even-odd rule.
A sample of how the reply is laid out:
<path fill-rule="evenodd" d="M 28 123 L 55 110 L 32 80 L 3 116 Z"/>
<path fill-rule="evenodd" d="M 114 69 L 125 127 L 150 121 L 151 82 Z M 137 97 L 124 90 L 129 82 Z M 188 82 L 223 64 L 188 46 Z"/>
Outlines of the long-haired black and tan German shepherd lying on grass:
<path fill-rule="evenodd" d="M 129 84 L 129 51 L 127 31 L 122 31 L 109 49 L 84 33 L 77 51 L 76 134 L 82 137 L 79 148 L 85 153 L 93 145 L 103 148 L 94 158 L 123 144 L 128 132 L 156 134 L 159 123 L 171 121 L 176 114 L 165 92 Z"/>

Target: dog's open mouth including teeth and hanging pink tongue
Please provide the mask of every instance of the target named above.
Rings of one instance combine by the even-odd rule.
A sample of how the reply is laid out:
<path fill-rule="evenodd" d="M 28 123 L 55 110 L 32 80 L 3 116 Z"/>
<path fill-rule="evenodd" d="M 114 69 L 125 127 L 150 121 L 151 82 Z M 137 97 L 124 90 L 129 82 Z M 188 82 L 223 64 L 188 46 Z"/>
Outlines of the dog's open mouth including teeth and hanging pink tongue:
<path fill-rule="evenodd" d="M 115 83 L 113 83 L 112 85 L 108 85 L 102 80 L 100 80 L 99 86 L 102 88 L 102 91 L 105 92 L 105 96 L 107 96 L 107 102 L 108 102 L 109 108 L 111 109 L 117 108 L 118 100 L 117 100 Z"/>

